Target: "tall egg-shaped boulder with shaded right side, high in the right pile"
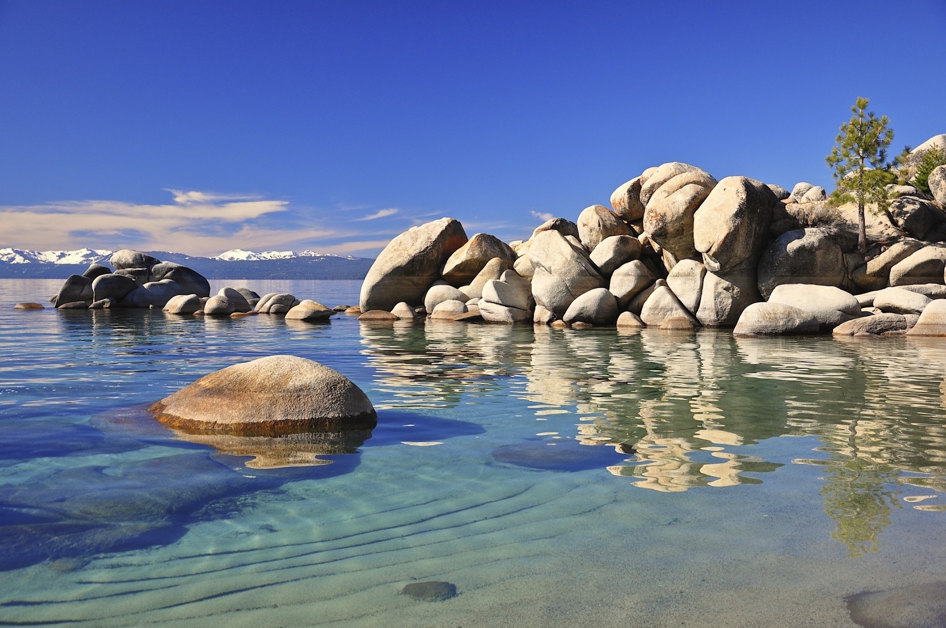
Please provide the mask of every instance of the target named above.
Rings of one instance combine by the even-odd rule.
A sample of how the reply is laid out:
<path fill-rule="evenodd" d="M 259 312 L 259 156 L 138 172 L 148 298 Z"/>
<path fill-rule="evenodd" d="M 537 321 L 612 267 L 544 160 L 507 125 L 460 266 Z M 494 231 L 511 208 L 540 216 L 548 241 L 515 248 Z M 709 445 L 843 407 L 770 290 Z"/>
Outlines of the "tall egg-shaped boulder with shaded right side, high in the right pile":
<path fill-rule="evenodd" d="M 760 252 L 778 201 L 764 183 L 745 177 L 720 181 L 693 215 L 693 245 L 707 270 L 734 269 Z"/>

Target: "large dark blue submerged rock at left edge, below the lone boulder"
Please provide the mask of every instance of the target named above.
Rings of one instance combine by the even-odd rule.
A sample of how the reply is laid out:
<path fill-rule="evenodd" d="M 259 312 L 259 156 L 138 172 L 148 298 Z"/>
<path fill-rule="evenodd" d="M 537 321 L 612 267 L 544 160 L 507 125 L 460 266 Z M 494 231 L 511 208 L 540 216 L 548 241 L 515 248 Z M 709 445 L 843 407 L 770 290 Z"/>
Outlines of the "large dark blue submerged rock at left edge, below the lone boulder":
<path fill-rule="evenodd" d="M 166 545 L 186 523 L 280 483 L 249 481 L 204 454 L 179 454 L 7 484 L 0 487 L 0 570 Z"/>

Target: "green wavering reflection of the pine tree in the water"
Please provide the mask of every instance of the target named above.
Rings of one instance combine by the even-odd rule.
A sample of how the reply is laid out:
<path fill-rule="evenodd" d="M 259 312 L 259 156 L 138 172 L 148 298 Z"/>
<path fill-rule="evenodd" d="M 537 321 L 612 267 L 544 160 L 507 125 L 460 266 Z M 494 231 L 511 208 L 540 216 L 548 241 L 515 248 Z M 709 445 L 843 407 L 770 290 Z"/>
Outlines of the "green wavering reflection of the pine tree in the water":
<path fill-rule="evenodd" d="M 900 471 L 887 464 L 857 455 L 832 456 L 821 495 L 825 513 L 834 520 L 832 538 L 848 546 L 848 556 L 858 558 L 877 551 L 877 537 L 890 524 L 890 509 L 900 508 L 900 491 L 887 487 L 897 482 Z"/>

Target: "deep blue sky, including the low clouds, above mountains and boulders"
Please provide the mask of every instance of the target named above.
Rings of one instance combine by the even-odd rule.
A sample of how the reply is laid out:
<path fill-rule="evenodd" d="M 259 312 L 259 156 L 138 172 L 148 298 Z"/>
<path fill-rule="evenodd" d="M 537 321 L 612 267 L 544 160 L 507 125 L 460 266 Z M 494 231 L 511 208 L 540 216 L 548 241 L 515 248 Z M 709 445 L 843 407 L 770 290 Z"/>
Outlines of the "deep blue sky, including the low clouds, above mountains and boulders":
<path fill-rule="evenodd" d="M 513 239 L 667 161 L 831 189 L 856 96 L 898 149 L 946 132 L 944 32 L 946 0 L 0 0 L 0 247 Z"/>

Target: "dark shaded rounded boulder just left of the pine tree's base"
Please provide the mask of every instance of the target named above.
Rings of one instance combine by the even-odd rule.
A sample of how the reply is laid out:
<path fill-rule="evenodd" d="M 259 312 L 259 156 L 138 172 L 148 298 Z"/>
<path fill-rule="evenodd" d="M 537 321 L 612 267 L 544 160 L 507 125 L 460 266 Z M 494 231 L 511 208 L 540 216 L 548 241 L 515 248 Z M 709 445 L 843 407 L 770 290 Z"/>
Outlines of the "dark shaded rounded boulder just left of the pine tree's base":
<path fill-rule="evenodd" d="M 846 273 L 844 253 L 828 231 L 797 229 L 779 236 L 762 255 L 759 291 L 768 298 L 780 284 L 840 287 Z"/>

